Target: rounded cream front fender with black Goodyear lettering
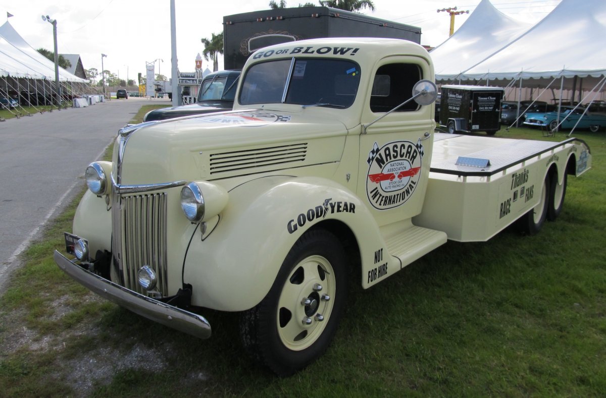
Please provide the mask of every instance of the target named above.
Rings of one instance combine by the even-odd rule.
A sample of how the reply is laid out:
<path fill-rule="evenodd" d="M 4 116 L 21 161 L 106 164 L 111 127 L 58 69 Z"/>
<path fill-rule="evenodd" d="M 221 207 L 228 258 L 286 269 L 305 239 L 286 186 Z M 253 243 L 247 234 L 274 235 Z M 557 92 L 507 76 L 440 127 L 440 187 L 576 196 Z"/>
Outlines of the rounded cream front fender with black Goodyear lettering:
<path fill-rule="evenodd" d="M 325 178 L 258 178 L 229 195 L 216 229 L 204 240 L 196 230 L 187 251 L 184 282 L 193 286 L 194 305 L 222 311 L 254 307 L 267 295 L 293 244 L 325 220 L 339 220 L 355 234 L 364 231 L 362 258 L 384 244 L 359 198 Z"/>

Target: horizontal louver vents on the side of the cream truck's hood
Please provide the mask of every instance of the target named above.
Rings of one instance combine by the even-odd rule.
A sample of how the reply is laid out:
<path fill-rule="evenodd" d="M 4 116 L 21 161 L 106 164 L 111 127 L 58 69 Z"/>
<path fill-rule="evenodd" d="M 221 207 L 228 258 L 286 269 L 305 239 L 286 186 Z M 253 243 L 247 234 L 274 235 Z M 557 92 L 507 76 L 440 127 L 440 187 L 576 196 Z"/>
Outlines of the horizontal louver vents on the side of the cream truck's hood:
<path fill-rule="evenodd" d="M 307 143 L 211 154 L 210 174 L 302 162 L 306 154 Z"/>

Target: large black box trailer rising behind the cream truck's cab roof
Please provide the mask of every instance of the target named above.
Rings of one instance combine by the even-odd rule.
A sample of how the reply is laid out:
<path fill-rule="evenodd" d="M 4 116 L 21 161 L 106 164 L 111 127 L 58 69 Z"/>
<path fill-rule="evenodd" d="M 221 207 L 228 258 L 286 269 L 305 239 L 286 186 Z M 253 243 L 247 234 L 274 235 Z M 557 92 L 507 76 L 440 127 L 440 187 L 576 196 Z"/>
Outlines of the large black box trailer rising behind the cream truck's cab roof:
<path fill-rule="evenodd" d="M 393 38 L 421 43 L 421 28 L 330 7 L 295 7 L 223 17 L 224 68 L 241 69 L 262 47 L 316 38 Z"/>

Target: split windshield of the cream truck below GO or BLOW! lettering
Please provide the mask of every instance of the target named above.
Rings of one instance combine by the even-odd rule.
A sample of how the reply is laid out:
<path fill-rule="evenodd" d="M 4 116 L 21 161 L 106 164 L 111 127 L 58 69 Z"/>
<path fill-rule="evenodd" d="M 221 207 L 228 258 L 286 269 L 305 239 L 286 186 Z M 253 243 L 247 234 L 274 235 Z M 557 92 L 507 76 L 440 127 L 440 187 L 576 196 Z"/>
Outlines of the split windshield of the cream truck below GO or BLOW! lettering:
<path fill-rule="evenodd" d="M 292 103 L 348 108 L 360 82 L 358 64 L 339 59 L 280 59 L 250 67 L 240 103 Z"/>

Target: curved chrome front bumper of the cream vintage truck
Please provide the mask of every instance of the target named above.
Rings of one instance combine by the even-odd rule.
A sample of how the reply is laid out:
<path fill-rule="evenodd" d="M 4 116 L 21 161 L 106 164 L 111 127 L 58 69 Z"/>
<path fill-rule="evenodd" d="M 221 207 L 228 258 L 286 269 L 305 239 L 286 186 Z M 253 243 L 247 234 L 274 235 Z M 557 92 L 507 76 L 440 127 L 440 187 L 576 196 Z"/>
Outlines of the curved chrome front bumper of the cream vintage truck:
<path fill-rule="evenodd" d="M 101 278 L 101 276 L 73 263 L 57 250 L 55 250 L 53 258 L 59 268 L 67 275 L 99 296 L 162 325 L 183 331 L 197 338 L 210 338 L 210 324 L 203 316 L 165 304 Z"/>

